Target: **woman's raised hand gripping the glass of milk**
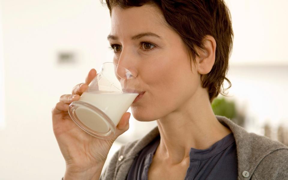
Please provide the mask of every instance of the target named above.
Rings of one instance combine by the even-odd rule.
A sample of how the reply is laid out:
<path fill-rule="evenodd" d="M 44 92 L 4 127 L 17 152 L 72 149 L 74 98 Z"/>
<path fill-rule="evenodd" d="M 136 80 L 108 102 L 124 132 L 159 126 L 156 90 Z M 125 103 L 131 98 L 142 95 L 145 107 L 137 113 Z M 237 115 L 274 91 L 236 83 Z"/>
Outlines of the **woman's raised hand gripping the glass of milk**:
<path fill-rule="evenodd" d="M 74 86 L 72 95 L 61 95 L 60 101 L 52 109 L 53 132 L 66 162 L 65 176 L 69 174 L 73 174 L 74 177 L 85 175 L 88 179 L 90 179 L 89 177 L 96 177 L 95 174 L 100 176 L 113 142 L 129 128 L 131 114 L 126 112 L 116 127 L 115 137 L 110 140 L 103 140 L 86 133 L 70 118 L 68 114 L 69 104 L 79 100 L 96 75 L 96 70 L 91 69 L 85 83 Z"/>

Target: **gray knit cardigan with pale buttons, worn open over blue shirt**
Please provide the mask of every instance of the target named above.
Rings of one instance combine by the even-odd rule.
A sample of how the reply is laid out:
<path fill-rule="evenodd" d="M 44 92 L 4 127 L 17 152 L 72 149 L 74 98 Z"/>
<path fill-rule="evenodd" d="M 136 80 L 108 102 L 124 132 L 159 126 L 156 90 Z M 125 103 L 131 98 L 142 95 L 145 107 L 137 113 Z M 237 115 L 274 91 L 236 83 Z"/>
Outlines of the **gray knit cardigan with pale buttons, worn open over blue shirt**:
<path fill-rule="evenodd" d="M 288 147 L 267 137 L 248 133 L 230 119 L 216 116 L 232 131 L 238 159 L 238 180 L 288 180 Z M 101 174 L 100 180 L 125 180 L 137 154 L 159 135 L 155 127 L 145 137 L 122 146 Z"/>

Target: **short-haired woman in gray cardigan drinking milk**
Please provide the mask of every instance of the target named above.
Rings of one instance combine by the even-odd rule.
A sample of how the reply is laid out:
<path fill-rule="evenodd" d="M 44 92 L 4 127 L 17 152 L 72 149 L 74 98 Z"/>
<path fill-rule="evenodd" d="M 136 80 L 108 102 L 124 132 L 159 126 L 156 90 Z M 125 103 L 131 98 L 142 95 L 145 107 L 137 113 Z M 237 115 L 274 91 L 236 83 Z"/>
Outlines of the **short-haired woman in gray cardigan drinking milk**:
<path fill-rule="evenodd" d="M 53 131 L 70 179 L 288 179 L 288 147 L 247 133 L 211 102 L 221 92 L 232 49 L 229 10 L 222 0 L 106 0 L 113 61 L 137 74 L 145 93 L 131 105 L 139 121 L 158 127 L 122 146 L 101 175 L 116 137 L 86 134 L 67 113 L 96 76 L 62 95 L 52 109 Z M 229 80 L 226 79 L 228 82 Z M 230 83 L 230 82 L 229 82 Z M 100 177 L 101 175 L 101 177 Z"/>

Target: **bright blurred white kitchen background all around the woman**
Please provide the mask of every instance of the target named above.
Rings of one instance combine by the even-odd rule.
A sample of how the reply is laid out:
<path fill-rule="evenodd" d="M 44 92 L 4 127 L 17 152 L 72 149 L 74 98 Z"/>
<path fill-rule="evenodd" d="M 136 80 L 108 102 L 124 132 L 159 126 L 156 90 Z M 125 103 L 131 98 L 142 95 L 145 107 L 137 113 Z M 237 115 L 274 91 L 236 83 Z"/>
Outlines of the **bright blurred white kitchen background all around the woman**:
<path fill-rule="evenodd" d="M 226 3 L 235 34 L 227 75 L 232 87 L 213 110 L 248 132 L 288 145 L 288 1 Z M 0 0 L 1 180 L 64 175 L 51 110 L 61 95 L 85 82 L 91 68 L 112 61 L 109 32 L 109 10 L 99 0 Z M 122 144 L 155 126 L 131 116 L 105 167 Z"/>

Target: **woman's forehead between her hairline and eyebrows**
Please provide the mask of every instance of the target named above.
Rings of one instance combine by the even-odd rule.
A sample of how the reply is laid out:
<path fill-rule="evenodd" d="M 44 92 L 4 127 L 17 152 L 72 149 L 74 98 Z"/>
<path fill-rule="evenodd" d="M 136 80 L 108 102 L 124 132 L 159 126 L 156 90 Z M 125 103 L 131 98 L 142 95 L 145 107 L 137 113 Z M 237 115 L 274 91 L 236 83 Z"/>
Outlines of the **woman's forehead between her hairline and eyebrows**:
<path fill-rule="evenodd" d="M 152 5 L 140 7 L 113 7 L 111 12 L 111 33 L 127 34 L 141 32 L 160 33 L 167 29 L 167 23 L 161 10 Z"/>

